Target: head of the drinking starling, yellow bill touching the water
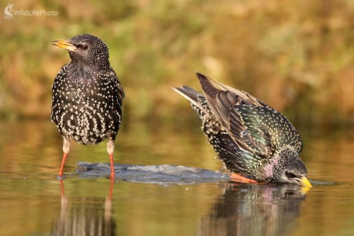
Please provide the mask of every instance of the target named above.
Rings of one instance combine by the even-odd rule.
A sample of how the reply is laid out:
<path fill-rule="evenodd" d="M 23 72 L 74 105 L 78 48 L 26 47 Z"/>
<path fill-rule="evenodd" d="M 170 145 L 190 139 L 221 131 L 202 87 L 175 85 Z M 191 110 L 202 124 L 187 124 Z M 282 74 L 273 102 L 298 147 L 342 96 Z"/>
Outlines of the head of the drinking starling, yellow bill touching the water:
<path fill-rule="evenodd" d="M 265 179 L 277 183 L 298 184 L 312 187 L 306 178 L 307 169 L 292 147 L 284 147 L 265 165 Z"/>

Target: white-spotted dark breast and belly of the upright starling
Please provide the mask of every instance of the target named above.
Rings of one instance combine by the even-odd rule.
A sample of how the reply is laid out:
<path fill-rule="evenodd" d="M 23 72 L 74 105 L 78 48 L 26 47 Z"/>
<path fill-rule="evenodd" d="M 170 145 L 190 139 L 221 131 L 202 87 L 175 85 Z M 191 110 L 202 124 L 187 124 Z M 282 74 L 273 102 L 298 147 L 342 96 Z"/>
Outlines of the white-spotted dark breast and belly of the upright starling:
<path fill-rule="evenodd" d="M 108 89 L 108 80 L 95 77 L 95 73 L 84 73 L 81 77 L 74 73 L 67 75 L 63 77 L 66 82 L 58 79 L 53 85 L 52 116 L 55 118 L 52 119 L 57 121 L 62 135 L 81 144 L 101 142 L 108 132 L 116 135 L 120 115 L 113 106 L 115 99 Z"/>

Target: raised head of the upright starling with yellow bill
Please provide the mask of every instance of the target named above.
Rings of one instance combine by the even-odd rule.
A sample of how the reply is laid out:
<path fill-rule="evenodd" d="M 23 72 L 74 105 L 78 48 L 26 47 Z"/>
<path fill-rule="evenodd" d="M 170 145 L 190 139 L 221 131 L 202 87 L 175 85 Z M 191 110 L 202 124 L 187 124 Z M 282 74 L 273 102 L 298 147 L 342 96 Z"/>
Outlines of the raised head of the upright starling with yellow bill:
<path fill-rule="evenodd" d="M 107 45 L 94 35 L 83 34 L 69 40 L 55 40 L 52 45 L 67 49 L 73 62 L 85 65 L 109 64 Z"/>

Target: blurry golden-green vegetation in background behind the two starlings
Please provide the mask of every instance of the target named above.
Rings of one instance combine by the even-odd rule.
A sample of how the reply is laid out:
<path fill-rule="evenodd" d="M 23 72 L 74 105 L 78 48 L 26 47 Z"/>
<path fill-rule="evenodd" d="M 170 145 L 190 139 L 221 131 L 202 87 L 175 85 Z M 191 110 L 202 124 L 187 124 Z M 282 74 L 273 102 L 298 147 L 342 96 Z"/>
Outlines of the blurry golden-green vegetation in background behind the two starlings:
<path fill-rule="evenodd" d="M 7 2 L 1 4 L 4 9 Z M 354 124 L 354 1 L 15 1 L 59 16 L 0 20 L 0 113 L 49 118 L 69 62 L 51 40 L 102 38 L 125 92 L 125 119 L 195 117 L 171 86 L 195 71 L 249 91 L 290 120 Z"/>

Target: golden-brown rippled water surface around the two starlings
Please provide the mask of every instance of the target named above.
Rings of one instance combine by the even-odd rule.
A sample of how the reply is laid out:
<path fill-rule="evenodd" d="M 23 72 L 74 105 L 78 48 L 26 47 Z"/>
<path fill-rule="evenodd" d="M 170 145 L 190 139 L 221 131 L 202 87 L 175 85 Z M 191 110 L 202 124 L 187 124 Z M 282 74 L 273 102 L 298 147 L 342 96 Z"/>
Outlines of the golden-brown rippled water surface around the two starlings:
<path fill-rule="evenodd" d="M 105 142 L 72 142 L 59 181 L 55 125 L 0 122 L 0 235 L 354 235 L 350 130 L 300 130 L 312 189 L 230 181 L 195 128 L 136 123 L 121 131 L 115 163 L 129 173 L 111 183 L 77 168 L 109 159 Z M 206 177 L 198 172 L 193 181 L 193 168 Z M 166 180 L 161 169 L 181 172 Z"/>

